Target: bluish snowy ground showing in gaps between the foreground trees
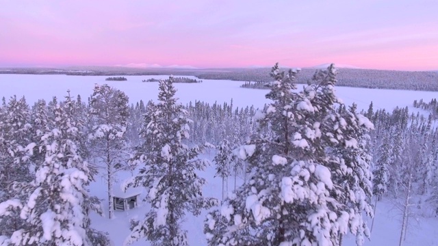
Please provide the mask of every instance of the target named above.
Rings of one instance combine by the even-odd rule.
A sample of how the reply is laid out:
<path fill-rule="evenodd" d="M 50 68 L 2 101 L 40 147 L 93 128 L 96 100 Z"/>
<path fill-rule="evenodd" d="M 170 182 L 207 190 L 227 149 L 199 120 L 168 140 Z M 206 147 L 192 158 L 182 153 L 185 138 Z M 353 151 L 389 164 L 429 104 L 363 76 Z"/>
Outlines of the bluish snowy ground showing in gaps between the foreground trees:
<path fill-rule="evenodd" d="M 214 152 L 210 154 L 205 154 L 201 156 L 202 158 L 207 158 L 209 160 L 213 159 Z M 201 173 L 203 178 L 208 180 L 207 185 L 204 189 L 204 195 L 208 197 L 215 197 L 217 199 L 221 198 L 222 194 L 222 179 L 214 178 L 215 170 L 211 166 L 205 172 Z M 127 178 L 129 172 L 125 172 L 120 176 L 121 179 Z M 242 184 L 242 178 L 237 178 L 237 185 Z M 234 178 L 229 178 L 229 191 L 232 191 L 234 187 Z M 91 192 L 93 195 L 98 195 L 101 199 L 106 199 L 105 184 L 100 180 L 92 184 Z M 104 204 L 106 205 L 106 203 Z M 106 208 L 106 207 L 105 207 Z M 123 241 L 129 234 L 129 219 L 137 217 L 142 219 L 144 215 L 149 210 L 149 205 L 142 204 L 139 208 L 129 210 L 127 212 L 116 211 L 116 219 L 109 220 L 106 218 L 99 217 L 99 215 L 93 215 L 92 226 L 96 229 L 103 230 L 110 233 L 114 245 L 123 245 Z M 105 210 L 107 211 L 107 210 Z M 203 234 L 203 221 L 205 219 L 206 212 L 204 212 L 199 217 L 190 216 L 184 223 L 185 230 L 188 230 L 189 245 L 193 246 L 203 246 L 206 245 L 207 241 Z M 409 223 L 408 233 L 405 246 L 414 245 L 438 245 L 438 218 L 422 218 L 418 217 L 420 221 L 412 221 Z M 371 219 L 368 222 L 371 226 Z M 365 239 L 365 245 L 367 246 L 391 246 L 398 245 L 400 239 L 400 226 L 401 226 L 401 216 L 398 210 L 394 207 L 394 204 L 387 200 L 378 202 L 376 209 L 376 217 L 374 221 L 374 228 L 372 230 L 371 240 Z M 135 246 L 149 245 L 146 241 L 138 241 L 134 244 Z M 346 236 L 344 240 L 344 246 L 355 246 L 355 237 L 352 235 Z"/>

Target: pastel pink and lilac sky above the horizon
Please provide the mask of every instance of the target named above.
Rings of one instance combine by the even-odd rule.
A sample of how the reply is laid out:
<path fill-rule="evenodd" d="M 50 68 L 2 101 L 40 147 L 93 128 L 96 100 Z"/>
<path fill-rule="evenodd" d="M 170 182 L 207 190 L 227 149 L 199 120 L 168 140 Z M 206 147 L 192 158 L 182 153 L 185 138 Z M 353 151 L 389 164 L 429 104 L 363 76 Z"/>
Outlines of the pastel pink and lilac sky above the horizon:
<path fill-rule="evenodd" d="M 0 0 L 0 66 L 438 70 L 438 1 Z M 142 66 L 142 65 L 139 65 Z"/>

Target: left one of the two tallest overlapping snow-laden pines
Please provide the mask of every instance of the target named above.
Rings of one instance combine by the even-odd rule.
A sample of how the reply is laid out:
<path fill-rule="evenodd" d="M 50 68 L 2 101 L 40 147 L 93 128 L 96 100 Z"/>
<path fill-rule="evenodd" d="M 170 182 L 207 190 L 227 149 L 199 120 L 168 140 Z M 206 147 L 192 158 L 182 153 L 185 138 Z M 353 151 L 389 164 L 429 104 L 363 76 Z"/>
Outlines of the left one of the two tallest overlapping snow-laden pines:
<path fill-rule="evenodd" d="M 279 185 L 292 161 L 295 74 L 281 72 L 278 64 L 272 68 L 275 81 L 266 98 L 273 102 L 257 112 L 259 130 L 236 150 L 240 159 L 248 160 L 253 176 L 227 197 L 220 210 L 207 215 L 204 231 L 209 245 L 279 245 L 291 234 L 288 229 L 296 227 L 294 218 L 283 216 L 288 209 Z M 263 127 L 270 128 L 268 134 L 262 133 Z"/>

